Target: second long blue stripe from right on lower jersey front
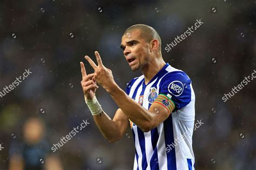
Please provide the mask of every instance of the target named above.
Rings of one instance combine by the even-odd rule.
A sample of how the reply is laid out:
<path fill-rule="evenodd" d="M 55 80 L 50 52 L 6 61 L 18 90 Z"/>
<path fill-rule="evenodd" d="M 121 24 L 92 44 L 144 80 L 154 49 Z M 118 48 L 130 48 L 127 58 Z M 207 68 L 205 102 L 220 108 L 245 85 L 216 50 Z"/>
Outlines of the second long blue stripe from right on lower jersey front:
<path fill-rule="evenodd" d="M 151 130 L 151 143 L 153 147 L 153 155 L 150 160 L 150 168 L 154 170 L 159 169 L 159 160 L 158 160 L 158 154 L 157 154 L 157 141 L 158 141 L 159 135 L 157 128 L 154 128 Z"/>

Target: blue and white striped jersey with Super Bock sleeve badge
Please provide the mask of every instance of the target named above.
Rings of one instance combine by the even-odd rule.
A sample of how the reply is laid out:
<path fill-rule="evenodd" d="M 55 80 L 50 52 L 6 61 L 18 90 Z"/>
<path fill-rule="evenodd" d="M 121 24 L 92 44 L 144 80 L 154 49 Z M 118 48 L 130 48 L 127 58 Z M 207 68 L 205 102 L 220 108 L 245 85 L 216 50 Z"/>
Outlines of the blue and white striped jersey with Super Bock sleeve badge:
<path fill-rule="evenodd" d="M 195 96 L 186 73 L 166 63 L 147 84 L 144 75 L 131 80 L 126 94 L 145 109 L 159 94 L 169 96 L 175 104 L 171 115 L 149 132 L 130 121 L 136 147 L 133 169 L 193 170 Z"/>

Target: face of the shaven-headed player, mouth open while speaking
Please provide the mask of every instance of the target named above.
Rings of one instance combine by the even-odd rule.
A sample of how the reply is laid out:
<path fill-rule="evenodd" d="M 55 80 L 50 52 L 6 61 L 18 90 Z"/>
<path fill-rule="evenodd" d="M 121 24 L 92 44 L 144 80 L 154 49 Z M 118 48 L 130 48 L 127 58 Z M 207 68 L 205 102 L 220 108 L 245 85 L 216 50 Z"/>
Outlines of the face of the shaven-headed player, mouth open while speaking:
<path fill-rule="evenodd" d="M 149 42 L 142 38 L 140 30 L 133 30 L 123 35 L 121 48 L 133 71 L 142 69 L 149 62 L 149 45 Z"/>

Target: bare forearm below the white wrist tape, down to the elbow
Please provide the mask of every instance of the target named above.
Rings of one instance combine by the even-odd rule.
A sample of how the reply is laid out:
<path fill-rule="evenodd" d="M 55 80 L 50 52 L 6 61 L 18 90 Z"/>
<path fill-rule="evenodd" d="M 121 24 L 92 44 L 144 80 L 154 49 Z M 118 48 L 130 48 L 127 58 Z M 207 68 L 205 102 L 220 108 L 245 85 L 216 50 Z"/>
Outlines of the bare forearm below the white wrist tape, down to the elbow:
<path fill-rule="evenodd" d="M 116 122 L 102 111 L 99 115 L 93 115 L 93 119 L 98 126 L 100 132 L 102 132 L 104 138 L 108 141 L 113 142 L 120 138 L 120 131 Z"/>

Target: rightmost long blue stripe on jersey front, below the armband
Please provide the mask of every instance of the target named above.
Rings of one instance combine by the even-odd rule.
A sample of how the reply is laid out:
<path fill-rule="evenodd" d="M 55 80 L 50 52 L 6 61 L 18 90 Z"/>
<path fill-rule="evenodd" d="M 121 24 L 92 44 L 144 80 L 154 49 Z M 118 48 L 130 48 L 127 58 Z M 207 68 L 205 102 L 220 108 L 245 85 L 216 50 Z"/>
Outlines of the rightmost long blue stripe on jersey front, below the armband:
<path fill-rule="evenodd" d="M 174 144 L 173 128 L 172 128 L 172 115 L 170 115 L 164 121 L 164 138 L 165 138 L 165 148 L 168 147 L 168 144 L 169 145 Z M 167 169 L 168 170 L 177 170 L 175 147 L 170 152 L 166 152 L 166 155 L 167 155 Z"/>

